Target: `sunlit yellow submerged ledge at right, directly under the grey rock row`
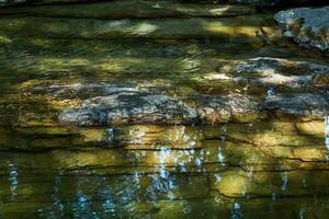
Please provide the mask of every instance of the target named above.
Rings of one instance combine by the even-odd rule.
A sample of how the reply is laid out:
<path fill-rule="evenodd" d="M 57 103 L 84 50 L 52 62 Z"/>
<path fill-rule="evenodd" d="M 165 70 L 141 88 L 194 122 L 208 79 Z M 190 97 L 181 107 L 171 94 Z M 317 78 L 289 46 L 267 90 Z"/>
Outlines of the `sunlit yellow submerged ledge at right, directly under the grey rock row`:
<path fill-rule="evenodd" d="M 324 124 L 324 120 L 321 122 Z M 313 135 L 313 134 L 299 134 L 296 128 L 296 125 L 300 123 L 252 123 L 252 124 L 226 124 L 220 127 L 205 127 L 204 135 L 206 139 L 219 139 L 220 137 L 225 137 L 226 142 L 246 142 L 252 146 L 263 147 L 261 150 L 265 150 L 271 154 L 271 157 L 275 157 L 280 154 L 283 155 L 283 151 L 274 152 L 271 150 L 281 148 L 281 149 L 290 149 L 290 148 L 324 148 L 325 137 L 324 137 L 324 125 L 320 125 L 322 128 L 321 135 Z M 319 125 L 320 122 L 309 122 L 304 123 L 308 124 L 308 126 Z M 304 125 L 307 126 L 307 125 Z M 320 128 L 318 128 L 320 129 Z M 320 130 L 319 130 L 320 131 Z M 241 146 L 239 146 L 241 147 Z M 285 147 L 285 148 L 284 148 Z M 238 146 L 234 147 L 234 151 L 237 151 Z M 236 154 L 237 155 L 237 154 Z"/>

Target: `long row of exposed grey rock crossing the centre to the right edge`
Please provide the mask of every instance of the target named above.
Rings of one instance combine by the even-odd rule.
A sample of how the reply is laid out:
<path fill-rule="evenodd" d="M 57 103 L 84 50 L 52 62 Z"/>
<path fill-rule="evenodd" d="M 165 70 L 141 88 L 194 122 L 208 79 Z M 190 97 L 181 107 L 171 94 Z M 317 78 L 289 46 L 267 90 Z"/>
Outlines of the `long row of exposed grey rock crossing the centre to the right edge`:
<path fill-rule="evenodd" d="M 79 126 L 252 123 L 273 115 L 279 118 L 292 116 L 297 120 L 322 119 L 329 113 L 329 101 L 324 93 L 273 94 L 265 99 L 237 93 L 173 97 L 169 91 L 157 88 L 90 85 L 80 84 L 80 89 L 77 85 L 52 85 L 52 89 L 46 89 L 57 99 L 67 96 L 66 93 L 72 94 L 72 90 L 80 97 L 84 96 L 83 92 L 89 94 L 80 107 L 64 110 L 59 115 L 60 123 Z M 75 95 L 69 97 L 75 99 Z"/>

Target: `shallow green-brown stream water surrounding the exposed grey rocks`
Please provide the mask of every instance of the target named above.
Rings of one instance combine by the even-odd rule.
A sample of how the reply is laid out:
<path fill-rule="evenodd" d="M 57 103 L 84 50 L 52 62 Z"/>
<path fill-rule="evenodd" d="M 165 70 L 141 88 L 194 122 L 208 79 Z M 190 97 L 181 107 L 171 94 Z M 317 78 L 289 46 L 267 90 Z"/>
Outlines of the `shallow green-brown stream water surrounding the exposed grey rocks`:
<path fill-rule="evenodd" d="M 328 65 L 282 38 L 272 12 L 173 5 L 0 9 L 0 218 L 327 218 L 328 116 L 226 123 L 206 108 L 203 124 L 58 123 L 84 100 L 147 89 L 192 105 L 326 92 L 260 82 L 266 69 L 218 72 L 256 57 Z M 254 36 L 260 26 L 271 44 Z"/>

